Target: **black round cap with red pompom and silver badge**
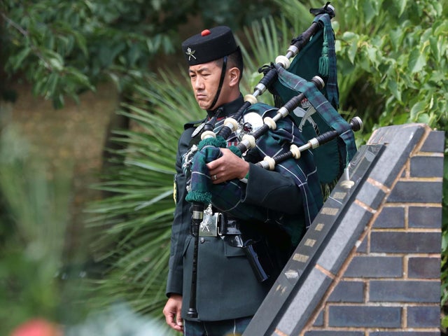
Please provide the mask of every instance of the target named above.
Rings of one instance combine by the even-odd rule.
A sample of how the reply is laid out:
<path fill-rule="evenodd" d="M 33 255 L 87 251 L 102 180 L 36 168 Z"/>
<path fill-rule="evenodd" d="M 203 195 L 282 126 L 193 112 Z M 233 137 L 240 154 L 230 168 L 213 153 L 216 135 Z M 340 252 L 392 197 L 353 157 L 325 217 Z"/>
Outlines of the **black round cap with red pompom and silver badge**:
<path fill-rule="evenodd" d="M 237 51 L 237 43 L 229 27 L 206 29 L 182 43 L 183 55 L 189 65 L 204 64 Z"/>

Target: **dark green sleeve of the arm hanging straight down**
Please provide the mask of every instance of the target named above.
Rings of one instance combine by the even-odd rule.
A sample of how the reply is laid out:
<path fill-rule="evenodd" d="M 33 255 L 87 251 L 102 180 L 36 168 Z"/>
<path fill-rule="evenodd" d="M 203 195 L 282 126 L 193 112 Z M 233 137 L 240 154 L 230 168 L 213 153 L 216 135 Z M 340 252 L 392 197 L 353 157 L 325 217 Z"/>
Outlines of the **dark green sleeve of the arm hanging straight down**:
<path fill-rule="evenodd" d="M 186 175 L 182 170 L 182 155 L 188 150 L 190 143 L 190 133 L 184 132 L 179 139 L 178 151 L 176 155 L 176 175 L 174 176 L 174 188 L 176 208 L 174 210 L 174 221 L 172 225 L 171 248 L 169 255 L 169 271 L 167 279 L 166 294 L 171 293 L 182 295 L 183 281 L 183 248 L 186 238 L 190 232 L 190 203 L 185 200 Z"/>

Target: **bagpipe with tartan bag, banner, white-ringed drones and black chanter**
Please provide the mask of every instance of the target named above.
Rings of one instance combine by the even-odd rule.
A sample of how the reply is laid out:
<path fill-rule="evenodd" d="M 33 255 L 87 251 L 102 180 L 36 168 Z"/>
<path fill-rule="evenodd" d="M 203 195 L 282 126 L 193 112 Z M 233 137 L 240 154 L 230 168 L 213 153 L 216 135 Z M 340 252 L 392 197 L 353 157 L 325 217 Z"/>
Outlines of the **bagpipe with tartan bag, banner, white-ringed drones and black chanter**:
<path fill-rule="evenodd" d="M 240 202 L 244 189 L 241 183 L 244 182 L 234 180 L 217 185 L 211 182 L 206 165 L 221 155 L 221 148 L 229 148 L 249 162 L 253 157 L 262 158 L 253 163 L 293 176 L 304 195 L 305 228 L 311 225 L 325 195 L 329 195 L 356 153 L 353 132 L 362 129 L 362 121 L 356 117 L 348 123 L 337 112 L 335 41 L 330 22 L 335 10 L 326 3 L 323 8 L 311 9 L 310 13 L 315 15 L 311 26 L 291 41 L 286 55 L 276 57 L 275 63 L 260 69 L 263 78 L 253 94 L 244 97 L 245 102 L 235 115 L 225 119 L 219 129 L 215 129 L 216 118 L 211 118 L 203 127 L 201 141 L 190 165 L 190 190 L 186 196 L 186 200 L 193 203 L 195 236 L 190 317 L 197 317 L 197 255 L 200 225 L 207 205 L 243 221 L 269 221 L 267 211 Z M 257 97 L 265 90 L 274 95 L 275 106 L 257 102 Z M 253 112 L 260 116 L 262 122 L 257 123 L 261 125 L 247 127 L 249 131 L 242 130 L 245 123 L 250 123 L 244 117 Z M 235 133 L 239 134 L 239 143 L 228 147 L 227 139 Z M 321 146 L 323 144 L 325 146 Z M 291 239 L 294 239 L 293 229 L 289 229 Z M 254 260 L 251 265 L 255 264 L 255 274 L 257 270 L 260 273 L 256 255 Z M 263 279 L 266 279 L 265 274 L 260 281 Z"/>

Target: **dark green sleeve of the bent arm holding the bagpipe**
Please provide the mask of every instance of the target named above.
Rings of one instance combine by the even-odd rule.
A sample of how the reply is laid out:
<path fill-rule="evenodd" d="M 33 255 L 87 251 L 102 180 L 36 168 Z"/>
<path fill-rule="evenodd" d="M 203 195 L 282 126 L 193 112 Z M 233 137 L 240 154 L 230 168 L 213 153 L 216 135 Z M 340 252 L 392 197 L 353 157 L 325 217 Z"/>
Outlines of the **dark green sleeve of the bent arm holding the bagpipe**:
<path fill-rule="evenodd" d="M 302 193 L 292 177 L 252 163 L 249 167 L 246 194 L 242 201 L 285 214 L 302 212 Z"/>

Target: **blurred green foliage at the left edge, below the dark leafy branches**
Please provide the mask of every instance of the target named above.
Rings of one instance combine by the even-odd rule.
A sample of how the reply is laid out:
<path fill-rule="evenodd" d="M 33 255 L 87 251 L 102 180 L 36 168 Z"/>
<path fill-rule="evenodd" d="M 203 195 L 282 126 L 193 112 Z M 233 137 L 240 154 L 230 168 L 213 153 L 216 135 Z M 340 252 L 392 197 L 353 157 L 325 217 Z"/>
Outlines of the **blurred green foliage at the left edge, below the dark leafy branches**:
<path fill-rule="evenodd" d="M 0 144 L 0 334 L 9 335 L 36 314 L 58 321 L 72 307 L 74 282 L 60 276 L 70 181 L 31 158 L 17 127 L 3 128 Z"/>

